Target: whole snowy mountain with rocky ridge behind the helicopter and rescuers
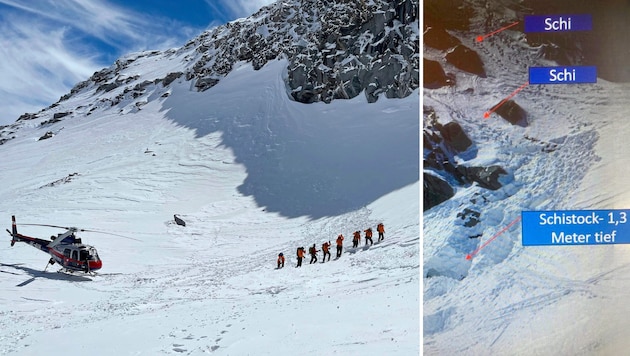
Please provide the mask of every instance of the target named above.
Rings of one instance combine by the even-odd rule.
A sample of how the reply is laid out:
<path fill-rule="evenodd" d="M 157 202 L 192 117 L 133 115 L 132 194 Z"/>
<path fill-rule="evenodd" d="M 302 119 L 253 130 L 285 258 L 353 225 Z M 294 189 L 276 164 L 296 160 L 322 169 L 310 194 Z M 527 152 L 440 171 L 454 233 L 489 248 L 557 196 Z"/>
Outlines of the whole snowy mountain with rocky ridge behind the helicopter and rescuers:
<path fill-rule="evenodd" d="M 6 227 L 77 226 L 102 261 L 57 273 L 5 235 L 0 354 L 418 355 L 416 10 L 278 2 L 0 129 Z"/>

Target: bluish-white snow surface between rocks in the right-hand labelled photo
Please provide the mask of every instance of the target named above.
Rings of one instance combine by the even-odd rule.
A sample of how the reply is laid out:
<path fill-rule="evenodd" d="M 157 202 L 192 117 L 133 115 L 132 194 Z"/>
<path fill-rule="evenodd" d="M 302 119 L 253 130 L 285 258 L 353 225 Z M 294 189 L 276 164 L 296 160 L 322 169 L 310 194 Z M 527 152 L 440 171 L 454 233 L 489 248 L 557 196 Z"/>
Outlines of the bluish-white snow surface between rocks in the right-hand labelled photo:
<path fill-rule="evenodd" d="M 480 53 L 488 78 L 460 72 L 456 87 L 425 91 L 423 104 L 475 142 L 462 162 L 498 164 L 509 174 L 497 191 L 462 187 L 424 213 L 425 354 L 627 354 L 628 246 L 524 248 L 516 224 L 472 261 L 465 256 L 523 210 L 628 208 L 628 84 L 529 86 L 515 98 L 528 127 L 497 115 L 484 120 L 527 81 L 528 66 L 553 63 L 518 32 L 482 44 L 458 35 Z M 481 212 L 473 228 L 457 217 L 466 207 Z"/>

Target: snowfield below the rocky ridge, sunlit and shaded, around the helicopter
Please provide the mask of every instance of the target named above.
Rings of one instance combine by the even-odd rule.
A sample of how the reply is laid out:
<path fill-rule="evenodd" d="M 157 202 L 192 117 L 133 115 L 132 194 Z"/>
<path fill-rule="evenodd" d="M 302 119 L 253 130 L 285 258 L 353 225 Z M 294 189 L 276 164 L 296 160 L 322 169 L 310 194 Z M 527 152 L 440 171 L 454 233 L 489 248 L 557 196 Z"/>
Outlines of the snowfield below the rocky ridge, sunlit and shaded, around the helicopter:
<path fill-rule="evenodd" d="M 287 98 L 285 68 L 243 65 L 203 93 L 179 80 L 33 123 L 0 146 L 7 228 L 15 214 L 18 226 L 135 239 L 81 233 L 103 259 L 85 277 L 43 272 L 47 255 L 11 248 L 7 235 L 1 354 L 419 352 L 419 97 L 299 104 Z M 80 108 L 88 94 L 58 109 Z M 57 135 L 38 141 L 47 130 Z M 318 204 L 314 191 L 339 206 Z M 348 248 L 352 231 L 379 222 L 383 242 Z M 339 233 L 339 260 L 294 268 L 296 247 L 321 249 Z M 279 252 L 288 259 L 275 270 Z"/>

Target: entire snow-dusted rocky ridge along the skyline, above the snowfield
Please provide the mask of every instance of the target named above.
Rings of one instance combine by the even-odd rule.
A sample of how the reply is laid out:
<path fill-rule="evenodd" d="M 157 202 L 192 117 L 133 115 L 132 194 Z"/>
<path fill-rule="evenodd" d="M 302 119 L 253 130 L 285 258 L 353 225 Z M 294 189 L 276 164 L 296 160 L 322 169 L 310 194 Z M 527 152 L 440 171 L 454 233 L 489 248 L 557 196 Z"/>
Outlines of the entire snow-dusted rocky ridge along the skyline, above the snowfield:
<path fill-rule="evenodd" d="M 419 87 L 418 12 L 412 0 L 278 1 L 248 18 L 208 30 L 181 48 L 121 57 L 57 103 L 0 127 L 0 144 L 15 137 L 26 121 L 46 126 L 130 101 L 139 110 L 146 104 L 140 97 L 175 80 L 188 81 L 191 90 L 203 92 L 242 62 L 257 70 L 271 60 L 286 59 L 287 95 L 302 103 L 328 103 L 362 92 L 368 102 L 381 95 L 406 97 Z M 134 62 L 147 60 L 177 62 L 177 70 L 154 77 L 128 74 Z M 90 107 L 60 106 L 79 95 L 94 96 Z"/>

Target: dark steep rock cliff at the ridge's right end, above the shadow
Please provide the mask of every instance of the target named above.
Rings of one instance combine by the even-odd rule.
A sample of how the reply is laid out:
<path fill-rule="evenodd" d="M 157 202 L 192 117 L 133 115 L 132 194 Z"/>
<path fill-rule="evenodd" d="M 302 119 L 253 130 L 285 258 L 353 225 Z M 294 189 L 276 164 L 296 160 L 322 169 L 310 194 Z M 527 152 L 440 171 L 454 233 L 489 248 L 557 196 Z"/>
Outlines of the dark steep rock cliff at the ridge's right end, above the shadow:
<path fill-rule="evenodd" d="M 291 96 L 304 103 L 330 102 L 364 91 L 368 102 L 374 102 L 379 94 L 388 98 L 411 94 L 419 86 L 419 36 L 412 28 L 417 26 L 417 3 L 378 2 L 376 7 L 368 2 L 341 3 L 348 7 L 341 14 L 314 8 L 322 14 L 321 32 L 304 33 L 307 42 L 291 50 L 287 83 Z"/>

